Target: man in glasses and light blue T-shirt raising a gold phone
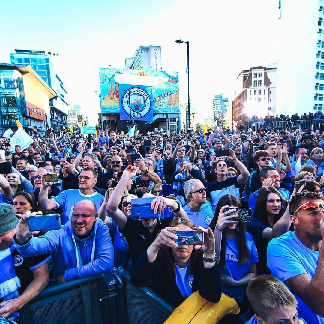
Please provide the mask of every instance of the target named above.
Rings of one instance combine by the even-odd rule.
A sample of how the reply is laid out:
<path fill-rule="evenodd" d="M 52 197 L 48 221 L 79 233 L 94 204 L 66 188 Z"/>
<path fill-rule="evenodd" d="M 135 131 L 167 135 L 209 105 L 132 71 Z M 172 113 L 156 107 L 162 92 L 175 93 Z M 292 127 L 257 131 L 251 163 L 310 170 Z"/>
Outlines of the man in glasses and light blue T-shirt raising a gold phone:
<path fill-rule="evenodd" d="M 78 176 L 80 189 L 64 190 L 51 199 L 48 199 L 48 190 L 52 183 L 45 181 L 45 175 L 46 173 L 43 173 L 38 197 L 38 206 L 41 211 L 48 211 L 61 207 L 63 209 L 62 225 L 70 219 L 74 206 L 81 200 L 91 200 L 97 206 L 98 212 L 104 197 L 93 189 L 98 180 L 98 172 L 95 169 L 84 168 L 81 171 Z"/>

